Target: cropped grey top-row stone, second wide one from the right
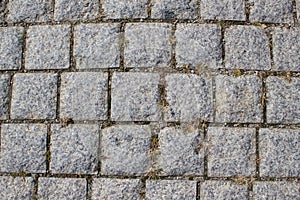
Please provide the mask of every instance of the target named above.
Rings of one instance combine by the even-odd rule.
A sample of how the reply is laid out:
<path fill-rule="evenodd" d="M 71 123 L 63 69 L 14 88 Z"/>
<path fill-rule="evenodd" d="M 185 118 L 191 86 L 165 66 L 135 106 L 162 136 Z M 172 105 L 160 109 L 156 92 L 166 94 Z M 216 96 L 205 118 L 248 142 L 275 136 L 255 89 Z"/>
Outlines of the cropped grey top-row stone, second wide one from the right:
<path fill-rule="evenodd" d="M 243 0 L 202 0 L 201 16 L 211 20 L 245 21 L 245 4 Z"/>

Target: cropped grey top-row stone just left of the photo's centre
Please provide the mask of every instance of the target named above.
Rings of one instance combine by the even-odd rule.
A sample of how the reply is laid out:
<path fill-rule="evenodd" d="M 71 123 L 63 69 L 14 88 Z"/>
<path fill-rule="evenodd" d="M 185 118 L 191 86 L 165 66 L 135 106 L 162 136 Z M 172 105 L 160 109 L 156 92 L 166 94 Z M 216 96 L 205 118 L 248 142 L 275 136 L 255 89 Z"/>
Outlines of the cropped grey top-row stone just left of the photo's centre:
<path fill-rule="evenodd" d="M 147 0 L 103 0 L 104 17 L 109 19 L 146 18 Z"/>

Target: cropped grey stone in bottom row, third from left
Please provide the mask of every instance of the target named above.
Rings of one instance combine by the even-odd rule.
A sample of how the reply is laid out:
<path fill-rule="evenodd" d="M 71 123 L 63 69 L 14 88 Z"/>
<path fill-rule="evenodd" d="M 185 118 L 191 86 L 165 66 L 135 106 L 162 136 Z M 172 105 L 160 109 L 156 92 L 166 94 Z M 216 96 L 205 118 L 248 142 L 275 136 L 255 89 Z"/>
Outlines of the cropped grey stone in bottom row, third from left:
<path fill-rule="evenodd" d="M 96 178 L 92 184 L 92 200 L 139 199 L 140 181 L 138 179 Z"/>

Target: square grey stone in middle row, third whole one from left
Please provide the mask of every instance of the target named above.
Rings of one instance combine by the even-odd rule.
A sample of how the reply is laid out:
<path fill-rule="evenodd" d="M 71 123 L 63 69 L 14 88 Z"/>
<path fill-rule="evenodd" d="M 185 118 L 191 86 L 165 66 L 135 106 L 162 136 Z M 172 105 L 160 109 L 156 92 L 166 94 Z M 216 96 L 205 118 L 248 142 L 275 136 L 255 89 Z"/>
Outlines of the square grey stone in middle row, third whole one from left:
<path fill-rule="evenodd" d="M 159 75 L 114 73 L 111 117 L 113 121 L 158 121 Z"/>

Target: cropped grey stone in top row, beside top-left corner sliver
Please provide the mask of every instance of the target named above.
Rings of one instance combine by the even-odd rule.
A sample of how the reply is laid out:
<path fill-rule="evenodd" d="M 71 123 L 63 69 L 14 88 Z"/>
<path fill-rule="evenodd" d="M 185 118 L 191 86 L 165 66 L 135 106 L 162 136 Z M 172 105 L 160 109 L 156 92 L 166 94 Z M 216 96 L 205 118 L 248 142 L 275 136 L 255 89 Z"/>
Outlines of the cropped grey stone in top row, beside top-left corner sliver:
<path fill-rule="evenodd" d="M 47 22 L 52 19 L 52 1 L 10 0 L 7 8 L 9 22 Z"/>

